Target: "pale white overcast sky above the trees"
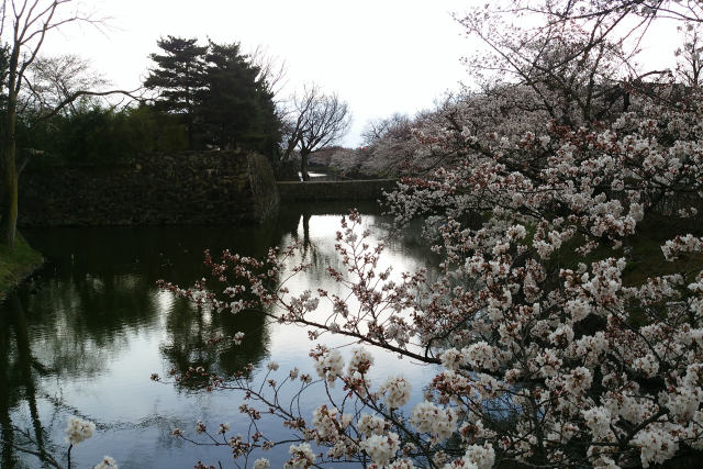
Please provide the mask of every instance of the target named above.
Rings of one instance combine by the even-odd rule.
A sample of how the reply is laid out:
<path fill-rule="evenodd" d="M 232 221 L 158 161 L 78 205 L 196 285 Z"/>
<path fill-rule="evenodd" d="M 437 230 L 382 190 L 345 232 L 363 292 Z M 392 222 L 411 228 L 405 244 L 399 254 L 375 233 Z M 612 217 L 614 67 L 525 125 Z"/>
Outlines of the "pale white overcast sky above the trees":
<path fill-rule="evenodd" d="M 90 58 L 114 86 L 132 89 L 161 36 L 260 45 L 286 60 L 283 94 L 314 81 L 349 103 L 354 124 L 343 143 L 354 146 L 370 119 L 414 114 L 459 88 L 467 78 L 459 59 L 478 44 L 450 13 L 477 1 L 82 0 L 96 16 L 109 16 L 110 27 L 71 25 L 54 33 L 44 52 Z"/>

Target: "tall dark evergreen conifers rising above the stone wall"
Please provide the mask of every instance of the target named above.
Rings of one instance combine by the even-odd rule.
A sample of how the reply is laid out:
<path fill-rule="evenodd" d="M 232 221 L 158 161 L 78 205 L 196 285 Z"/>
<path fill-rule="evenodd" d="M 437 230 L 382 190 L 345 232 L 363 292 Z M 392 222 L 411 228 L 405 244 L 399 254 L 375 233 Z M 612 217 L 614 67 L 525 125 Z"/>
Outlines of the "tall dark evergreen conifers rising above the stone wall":
<path fill-rule="evenodd" d="M 156 108 L 180 115 L 191 148 L 243 147 L 269 157 L 278 147 L 279 122 L 266 76 L 237 43 L 167 36 L 152 54 L 156 67 L 144 85 L 158 92 Z"/>

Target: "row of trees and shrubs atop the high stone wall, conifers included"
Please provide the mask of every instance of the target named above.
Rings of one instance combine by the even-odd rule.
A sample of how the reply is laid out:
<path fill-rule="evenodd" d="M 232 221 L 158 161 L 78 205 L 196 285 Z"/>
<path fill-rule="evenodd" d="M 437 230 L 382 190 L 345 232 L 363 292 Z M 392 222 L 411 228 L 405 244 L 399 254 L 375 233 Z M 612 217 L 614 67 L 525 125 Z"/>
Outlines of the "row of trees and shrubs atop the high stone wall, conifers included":
<path fill-rule="evenodd" d="M 308 155 L 348 130 L 347 104 L 315 85 L 277 101 L 274 87 L 281 70 L 256 53 L 242 53 L 237 43 L 200 45 L 197 38 L 169 35 L 157 46 L 144 81 L 147 98 L 114 105 L 83 97 L 48 118 L 45 111 L 66 96 L 100 88 L 107 80 L 77 56 L 37 59 L 29 70 L 32 87 L 19 105 L 19 148 L 41 149 L 44 164 L 59 165 L 115 164 L 140 153 L 241 148 L 265 155 L 275 166 L 301 158 L 305 174 Z M 0 71 L 3 66 L 4 52 Z M 0 107 L 2 99 L 5 93 L 0 93 Z"/>

